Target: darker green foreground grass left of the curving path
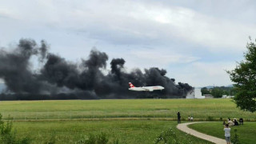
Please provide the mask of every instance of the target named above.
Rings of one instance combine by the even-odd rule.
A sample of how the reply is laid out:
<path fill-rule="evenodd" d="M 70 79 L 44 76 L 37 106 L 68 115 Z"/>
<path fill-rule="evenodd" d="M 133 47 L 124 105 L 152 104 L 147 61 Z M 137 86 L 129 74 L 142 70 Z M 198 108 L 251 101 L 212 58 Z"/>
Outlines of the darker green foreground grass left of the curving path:
<path fill-rule="evenodd" d="M 50 138 L 56 143 L 75 143 L 84 135 L 106 133 L 109 143 L 154 143 L 163 130 L 173 127 L 181 138 L 190 138 L 193 143 L 210 143 L 194 138 L 177 130 L 174 121 L 114 120 L 114 121 L 54 121 L 54 122 L 14 122 L 17 135 L 30 135 L 32 143 L 46 143 Z"/>

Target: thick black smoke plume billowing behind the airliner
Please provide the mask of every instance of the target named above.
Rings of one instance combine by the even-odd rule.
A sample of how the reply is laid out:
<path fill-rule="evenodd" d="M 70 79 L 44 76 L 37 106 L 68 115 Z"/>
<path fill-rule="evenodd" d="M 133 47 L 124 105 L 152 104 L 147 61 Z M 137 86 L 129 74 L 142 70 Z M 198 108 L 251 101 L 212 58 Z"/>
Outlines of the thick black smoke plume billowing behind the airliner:
<path fill-rule="evenodd" d="M 32 58 L 33 57 L 33 58 Z M 32 70 L 32 59 L 38 58 L 39 70 Z M 192 89 L 187 83 L 166 77 L 166 70 L 157 67 L 135 69 L 126 72 L 123 58 L 110 62 L 104 52 L 91 50 L 89 58 L 79 64 L 49 52 L 49 46 L 42 41 L 21 39 L 11 51 L 0 51 L 0 78 L 7 86 L 8 94 L 2 99 L 69 99 L 69 98 L 184 98 Z M 134 92 L 128 90 L 128 82 L 134 86 L 163 86 L 165 90 Z"/>

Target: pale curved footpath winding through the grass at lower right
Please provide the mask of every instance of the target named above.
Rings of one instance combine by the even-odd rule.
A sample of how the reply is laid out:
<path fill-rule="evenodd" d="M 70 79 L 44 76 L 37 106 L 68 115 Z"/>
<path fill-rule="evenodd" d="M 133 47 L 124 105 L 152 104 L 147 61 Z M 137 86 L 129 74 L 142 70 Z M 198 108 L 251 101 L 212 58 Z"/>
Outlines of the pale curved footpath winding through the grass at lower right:
<path fill-rule="evenodd" d="M 181 123 L 177 125 L 178 130 L 182 130 L 187 134 L 194 135 L 195 137 L 205 139 L 206 141 L 218 143 L 218 144 L 226 144 L 226 140 L 222 138 L 216 138 L 207 134 L 199 133 L 196 130 L 192 130 L 187 127 L 187 125 L 194 124 L 194 123 L 202 123 L 202 122 L 187 122 L 187 123 Z M 224 131 L 222 131 L 223 137 L 224 137 Z"/>

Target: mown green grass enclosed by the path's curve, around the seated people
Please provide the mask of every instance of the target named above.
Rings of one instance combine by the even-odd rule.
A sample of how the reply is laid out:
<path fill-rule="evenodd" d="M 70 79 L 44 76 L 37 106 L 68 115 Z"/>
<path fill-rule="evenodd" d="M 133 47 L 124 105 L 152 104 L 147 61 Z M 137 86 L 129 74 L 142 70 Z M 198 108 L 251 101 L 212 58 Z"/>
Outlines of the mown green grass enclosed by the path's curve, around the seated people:
<path fill-rule="evenodd" d="M 189 125 L 190 128 L 204 134 L 213 135 L 218 138 L 225 138 L 222 122 L 207 122 Z M 241 126 L 231 126 L 231 138 L 234 138 L 234 129 L 237 129 L 239 140 L 242 144 L 254 144 L 256 141 L 256 122 L 244 122 Z"/>

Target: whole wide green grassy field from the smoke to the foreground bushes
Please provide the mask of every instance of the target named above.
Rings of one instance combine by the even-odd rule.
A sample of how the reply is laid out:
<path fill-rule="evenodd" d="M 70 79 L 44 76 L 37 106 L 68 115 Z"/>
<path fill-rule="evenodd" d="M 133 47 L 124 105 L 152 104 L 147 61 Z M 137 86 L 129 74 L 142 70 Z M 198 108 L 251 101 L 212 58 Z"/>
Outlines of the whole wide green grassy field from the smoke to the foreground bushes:
<path fill-rule="evenodd" d="M 75 143 L 88 134 L 107 134 L 114 143 L 154 143 L 163 130 L 174 127 L 178 137 L 194 143 L 206 143 L 186 136 L 175 126 L 177 112 L 182 122 L 189 115 L 194 120 L 244 118 L 255 121 L 256 113 L 238 110 L 231 99 L 118 99 L 118 100 L 66 100 L 66 101 L 2 101 L 0 113 L 4 119 L 14 118 L 18 137 L 30 135 L 33 143 L 46 143 L 51 138 L 56 143 Z M 171 121 L 173 120 L 173 121 Z M 217 129 L 210 125 L 206 132 Z M 246 123 L 246 122 L 245 122 Z M 251 125 L 254 130 L 255 122 Z M 212 126 L 212 127 L 211 127 Z M 246 127 L 246 125 L 245 125 Z M 222 130 L 218 131 L 222 137 Z M 249 131 L 250 132 L 250 131 Z M 242 131 L 243 138 L 246 131 Z M 256 134 L 251 131 L 251 134 Z M 249 134 L 250 135 L 250 134 Z M 242 139 L 247 142 L 247 139 Z M 248 140 L 249 141 L 249 140 Z"/>

